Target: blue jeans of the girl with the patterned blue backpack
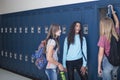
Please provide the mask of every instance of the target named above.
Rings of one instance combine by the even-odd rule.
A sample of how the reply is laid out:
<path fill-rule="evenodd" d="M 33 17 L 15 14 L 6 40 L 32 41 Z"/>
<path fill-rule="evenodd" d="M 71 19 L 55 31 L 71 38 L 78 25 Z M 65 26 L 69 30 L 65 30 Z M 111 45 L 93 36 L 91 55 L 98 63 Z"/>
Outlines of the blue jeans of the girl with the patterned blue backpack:
<path fill-rule="evenodd" d="M 45 70 L 48 80 L 57 80 L 57 71 L 56 69 L 46 69 Z"/>

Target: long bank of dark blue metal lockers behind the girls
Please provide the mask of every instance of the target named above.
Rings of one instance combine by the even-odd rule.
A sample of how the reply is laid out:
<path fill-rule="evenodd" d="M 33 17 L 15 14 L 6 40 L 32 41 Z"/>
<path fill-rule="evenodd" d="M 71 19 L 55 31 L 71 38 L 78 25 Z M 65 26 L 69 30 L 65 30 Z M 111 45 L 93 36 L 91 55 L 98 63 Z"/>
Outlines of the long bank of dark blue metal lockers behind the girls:
<path fill-rule="evenodd" d="M 109 4 L 115 7 L 120 20 L 120 0 L 100 0 L 0 15 L 0 67 L 44 80 L 44 70 L 36 68 L 31 55 L 45 39 L 50 24 L 58 23 L 62 29 L 59 55 L 62 62 L 64 38 L 71 23 L 80 21 L 87 40 L 88 77 L 89 80 L 98 80 L 99 20 L 106 16 Z M 76 75 L 76 80 L 78 78 Z"/>

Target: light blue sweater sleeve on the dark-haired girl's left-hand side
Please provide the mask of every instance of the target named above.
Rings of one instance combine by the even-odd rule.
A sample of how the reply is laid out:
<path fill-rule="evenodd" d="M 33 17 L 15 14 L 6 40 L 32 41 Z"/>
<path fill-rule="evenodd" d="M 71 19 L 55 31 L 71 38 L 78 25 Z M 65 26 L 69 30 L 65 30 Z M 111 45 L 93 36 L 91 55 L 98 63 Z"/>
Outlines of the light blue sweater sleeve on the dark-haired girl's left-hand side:
<path fill-rule="evenodd" d="M 63 46 L 63 61 L 62 61 L 64 68 L 66 68 L 67 51 L 68 51 L 68 44 L 67 44 L 67 38 L 65 38 L 64 46 Z"/>

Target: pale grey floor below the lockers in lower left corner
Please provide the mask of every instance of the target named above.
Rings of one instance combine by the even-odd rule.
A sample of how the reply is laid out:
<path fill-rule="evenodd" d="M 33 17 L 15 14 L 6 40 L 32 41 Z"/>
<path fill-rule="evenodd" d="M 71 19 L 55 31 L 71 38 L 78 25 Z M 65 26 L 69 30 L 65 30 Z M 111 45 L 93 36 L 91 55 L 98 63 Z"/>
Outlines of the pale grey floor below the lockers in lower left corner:
<path fill-rule="evenodd" d="M 32 80 L 0 68 L 0 80 Z"/>

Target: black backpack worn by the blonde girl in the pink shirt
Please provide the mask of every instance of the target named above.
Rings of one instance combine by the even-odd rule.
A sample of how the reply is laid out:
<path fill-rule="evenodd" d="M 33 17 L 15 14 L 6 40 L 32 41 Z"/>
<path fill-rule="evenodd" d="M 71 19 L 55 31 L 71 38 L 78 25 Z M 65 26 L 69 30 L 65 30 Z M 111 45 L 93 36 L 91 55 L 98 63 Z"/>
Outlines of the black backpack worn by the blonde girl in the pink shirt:
<path fill-rule="evenodd" d="M 110 54 L 107 58 L 113 66 L 120 66 L 120 37 L 117 41 L 113 35 L 111 36 Z"/>

